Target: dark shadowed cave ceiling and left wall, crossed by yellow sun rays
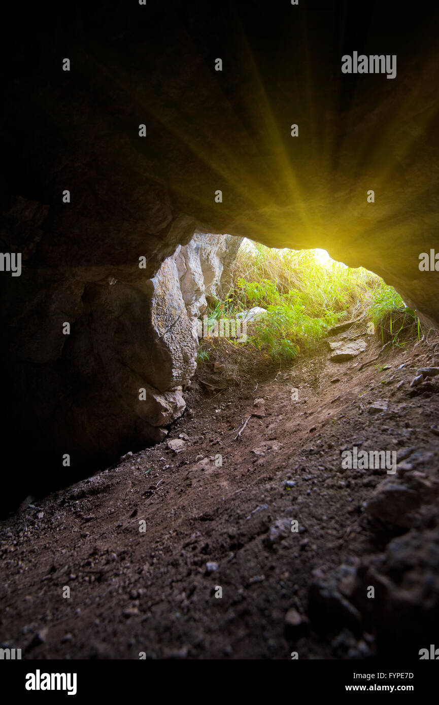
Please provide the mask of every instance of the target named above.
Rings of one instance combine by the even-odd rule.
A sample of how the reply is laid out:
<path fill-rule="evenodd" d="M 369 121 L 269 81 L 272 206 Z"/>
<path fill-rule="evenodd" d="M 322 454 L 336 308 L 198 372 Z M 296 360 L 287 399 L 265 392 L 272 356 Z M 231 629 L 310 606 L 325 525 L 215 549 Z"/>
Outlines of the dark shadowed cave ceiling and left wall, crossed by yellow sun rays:
<path fill-rule="evenodd" d="M 152 281 L 196 229 L 324 247 L 437 323 L 419 254 L 439 250 L 438 9 L 377 4 L 359 21 L 349 6 L 20 5 L 5 25 L 1 249 L 23 271 L 0 272 L 4 431 L 12 449 L 27 435 L 47 474 L 109 462 L 161 436 L 158 407 L 181 410 L 174 396 L 139 415 L 133 387 L 179 393 L 190 372 L 194 341 L 173 376 L 150 321 L 154 300 L 184 311 L 178 262 L 170 288 Z M 342 75 L 352 51 L 396 54 L 397 77 Z"/>

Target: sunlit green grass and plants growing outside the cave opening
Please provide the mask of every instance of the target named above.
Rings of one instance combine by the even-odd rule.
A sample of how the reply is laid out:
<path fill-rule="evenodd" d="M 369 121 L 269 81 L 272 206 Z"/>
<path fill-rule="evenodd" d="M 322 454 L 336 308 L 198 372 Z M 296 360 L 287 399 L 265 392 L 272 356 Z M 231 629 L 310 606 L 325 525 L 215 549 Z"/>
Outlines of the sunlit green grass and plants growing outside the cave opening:
<path fill-rule="evenodd" d="M 322 263 L 315 250 L 275 250 L 244 243 L 232 266 L 227 297 L 208 312 L 209 327 L 217 319 L 233 318 L 254 306 L 267 309 L 248 342 L 276 361 L 293 360 L 302 350 L 313 350 L 327 330 L 344 319 L 372 321 L 383 341 L 390 335 L 394 345 L 404 345 L 400 334 L 415 321 L 419 336 L 416 312 L 367 269 L 351 269 L 331 260 Z M 198 355 L 199 361 L 206 359 Z"/>

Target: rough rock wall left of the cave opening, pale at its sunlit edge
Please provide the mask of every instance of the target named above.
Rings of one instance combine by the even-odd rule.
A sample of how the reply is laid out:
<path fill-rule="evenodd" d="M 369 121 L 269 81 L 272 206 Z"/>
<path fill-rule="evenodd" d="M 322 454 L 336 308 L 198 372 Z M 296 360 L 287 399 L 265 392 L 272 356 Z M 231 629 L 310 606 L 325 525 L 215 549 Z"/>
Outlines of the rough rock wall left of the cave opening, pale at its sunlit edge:
<path fill-rule="evenodd" d="M 49 489 L 83 477 L 89 467 L 166 436 L 186 407 L 182 388 L 196 369 L 196 321 L 206 294 L 222 293 L 240 243 L 196 233 L 152 278 L 139 266 L 129 278 L 113 268 L 88 282 L 45 271 L 36 300 L 23 300 L 23 283 L 36 287 L 42 272 L 23 270 L 22 286 L 9 280 L 10 309 L 3 314 L 13 319 L 20 311 L 8 356 L 3 349 L 10 437 L 18 428 L 30 433 L 32 464 L 47 470 L 38 476 L 39 489 L 46 479 Z M 25 472 L 29 483 L 36 493 Z"/>

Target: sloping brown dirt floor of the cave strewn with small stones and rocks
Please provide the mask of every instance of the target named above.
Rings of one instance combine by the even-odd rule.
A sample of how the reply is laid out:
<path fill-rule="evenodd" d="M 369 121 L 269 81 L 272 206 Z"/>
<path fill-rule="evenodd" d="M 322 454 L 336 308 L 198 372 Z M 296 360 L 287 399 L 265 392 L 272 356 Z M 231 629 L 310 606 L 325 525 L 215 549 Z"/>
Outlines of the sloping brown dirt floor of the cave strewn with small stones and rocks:
<path fill-rule="evenodd" d="M 242 387 L 204 362 L 163 443 L 1 522 L 1 646 L 419 658 L 439 614 L 439 376 L 410 385 L 438 338 L 363 369 L 380 341 L 327 340 L 343 338 L 367 348 L 331 362 L 325 341 L 289 369 L 247 369 Z M 345 470 L 354 446 L 396 450 L 397 472 Z"/>

